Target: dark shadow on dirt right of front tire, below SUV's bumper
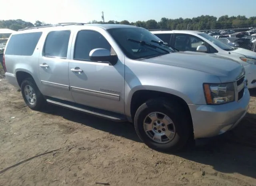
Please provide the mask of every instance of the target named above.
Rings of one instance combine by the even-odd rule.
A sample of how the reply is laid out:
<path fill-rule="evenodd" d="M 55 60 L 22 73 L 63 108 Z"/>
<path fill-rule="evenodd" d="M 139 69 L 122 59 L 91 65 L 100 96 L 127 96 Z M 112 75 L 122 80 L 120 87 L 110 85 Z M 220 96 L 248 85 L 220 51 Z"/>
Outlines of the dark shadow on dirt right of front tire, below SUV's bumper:
<path fill-rule="evenodd" d="M 233 130 L 176 155 L 219 172 L 256 178 L 256 114 L 246 114 Z"/>

